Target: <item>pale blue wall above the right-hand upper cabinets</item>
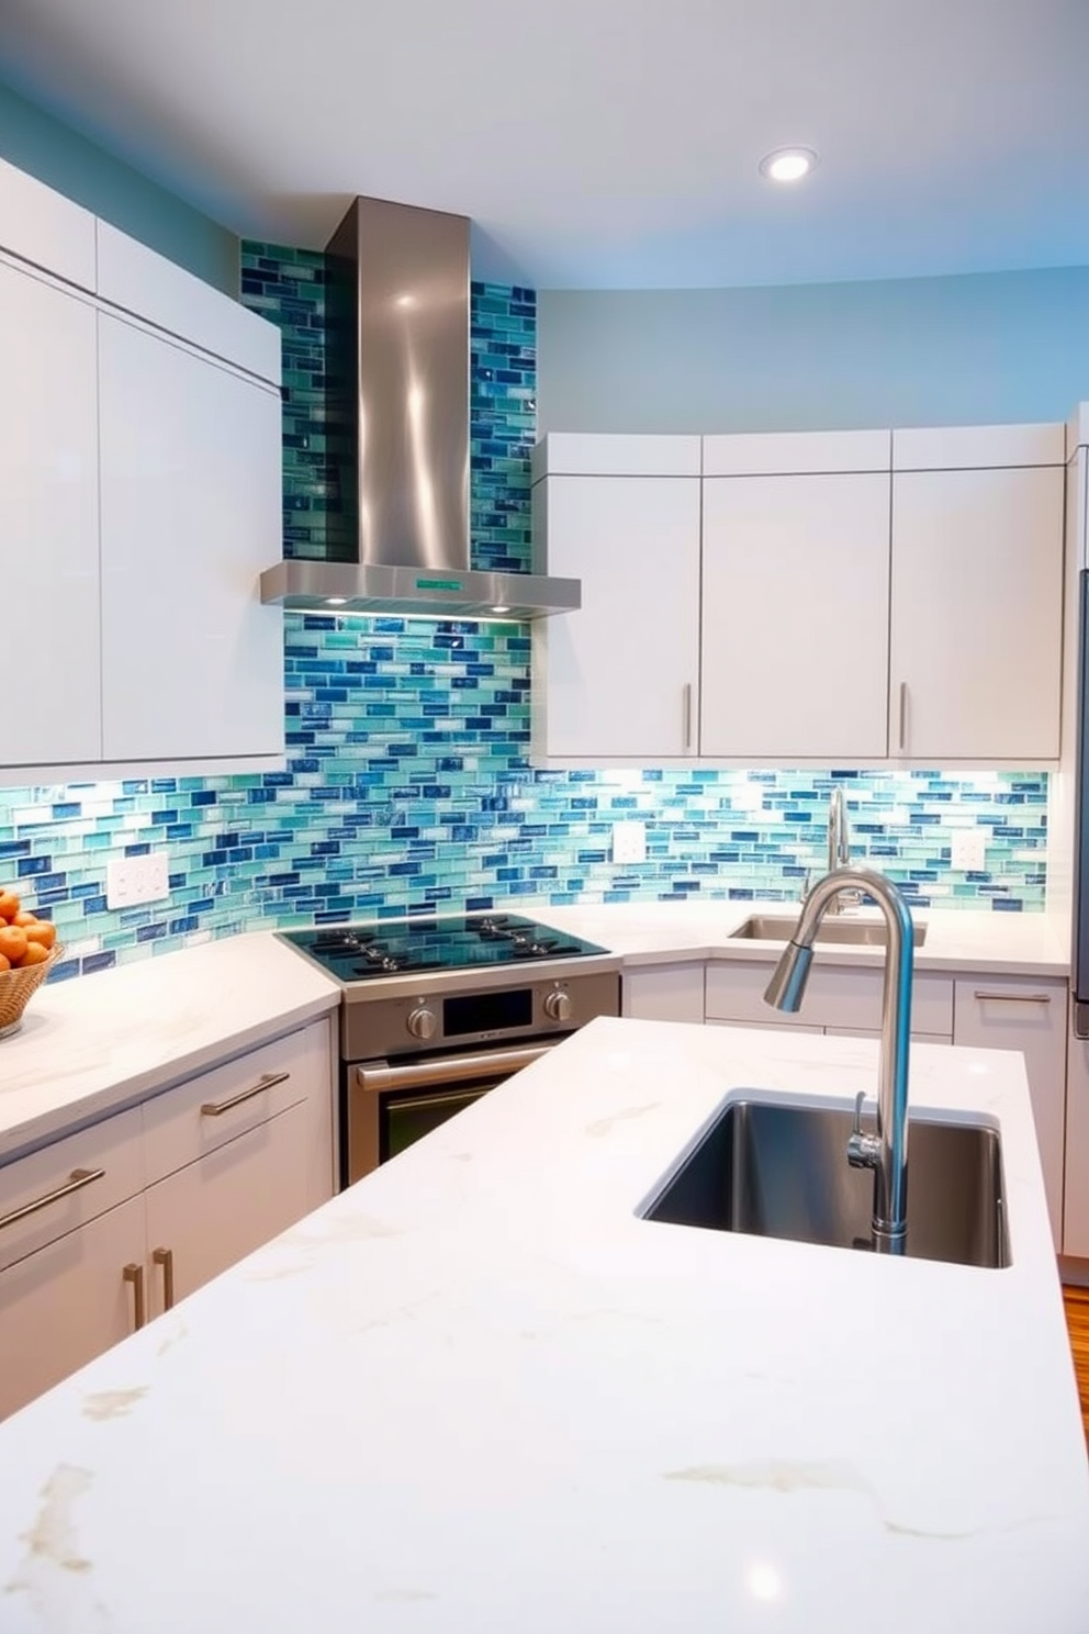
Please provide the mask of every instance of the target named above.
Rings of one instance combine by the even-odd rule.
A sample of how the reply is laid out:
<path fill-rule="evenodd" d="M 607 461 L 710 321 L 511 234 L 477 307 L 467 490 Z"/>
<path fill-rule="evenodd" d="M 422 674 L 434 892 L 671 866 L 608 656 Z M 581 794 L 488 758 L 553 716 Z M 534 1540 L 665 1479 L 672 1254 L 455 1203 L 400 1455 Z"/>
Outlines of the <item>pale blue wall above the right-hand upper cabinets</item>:
<path fill-rule="evenodd" d="M 761 289 L 540 291 L 540 431 L 1065 420 L 1089 266 Z"/>

